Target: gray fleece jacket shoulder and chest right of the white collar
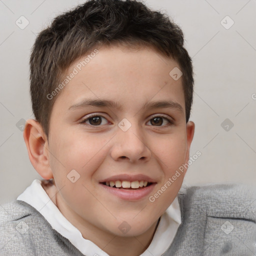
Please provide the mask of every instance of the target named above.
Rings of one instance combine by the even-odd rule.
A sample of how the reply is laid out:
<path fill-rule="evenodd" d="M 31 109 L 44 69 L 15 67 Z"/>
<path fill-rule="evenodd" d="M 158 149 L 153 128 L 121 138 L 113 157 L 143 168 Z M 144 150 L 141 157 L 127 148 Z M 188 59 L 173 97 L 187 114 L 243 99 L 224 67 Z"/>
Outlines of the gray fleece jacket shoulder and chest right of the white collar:
<path fill-rule="evenodd" d="M 254 255 L 256 190 L 242 184 L 183 185 L 171 255 Z M 254 253 L 254 254 L 252 254 Z"/>

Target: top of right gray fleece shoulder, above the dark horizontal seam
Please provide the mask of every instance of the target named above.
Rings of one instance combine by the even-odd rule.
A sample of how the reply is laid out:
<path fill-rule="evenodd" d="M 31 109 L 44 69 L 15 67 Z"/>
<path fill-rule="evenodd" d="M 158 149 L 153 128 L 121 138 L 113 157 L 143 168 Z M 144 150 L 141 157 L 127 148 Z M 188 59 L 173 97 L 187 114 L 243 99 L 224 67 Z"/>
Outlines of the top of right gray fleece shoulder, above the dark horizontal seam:
<path fill-rule="evenodd" d="M 183 210 L 199 210 L 208 216 L 247 218 L 256 222 L 256 188 L 253 185 L 213 183 L 182 186 Z"/>

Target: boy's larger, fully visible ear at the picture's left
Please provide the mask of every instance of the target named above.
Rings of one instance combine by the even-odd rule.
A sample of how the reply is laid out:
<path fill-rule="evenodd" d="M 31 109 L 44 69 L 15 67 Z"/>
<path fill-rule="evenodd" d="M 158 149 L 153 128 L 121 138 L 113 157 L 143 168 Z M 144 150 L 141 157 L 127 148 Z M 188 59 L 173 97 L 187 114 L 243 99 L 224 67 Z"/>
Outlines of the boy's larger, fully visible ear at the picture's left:
<path fill-rule="evenodd" d="M 39 122 L 34 119 L 26 120 L 23 138 L 26 143 L 29 160 L 35 170 L 44 179 L 53 178 L 49 165 L 48 141 Z"/>

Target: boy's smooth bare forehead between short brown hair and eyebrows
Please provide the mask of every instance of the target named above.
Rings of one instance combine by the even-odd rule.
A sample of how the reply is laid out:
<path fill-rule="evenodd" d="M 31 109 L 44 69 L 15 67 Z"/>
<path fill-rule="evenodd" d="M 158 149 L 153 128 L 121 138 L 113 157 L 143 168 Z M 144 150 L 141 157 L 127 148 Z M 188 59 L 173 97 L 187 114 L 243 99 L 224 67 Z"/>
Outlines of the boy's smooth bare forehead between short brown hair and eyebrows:
<path fill-rule="evenodd" d="M 176 102 L 184 111 L 182 77 L 171 76 L 176 68 L 180 69 L 175 60 L 149 47 L 92 49 L 66 70 L 62 81 L 68 82 L 54 105 L 68 110 L 89 98 L 112 101 L 119 109 L 135 109 L 149 106 L 149 101 L 165 100 Z"/>

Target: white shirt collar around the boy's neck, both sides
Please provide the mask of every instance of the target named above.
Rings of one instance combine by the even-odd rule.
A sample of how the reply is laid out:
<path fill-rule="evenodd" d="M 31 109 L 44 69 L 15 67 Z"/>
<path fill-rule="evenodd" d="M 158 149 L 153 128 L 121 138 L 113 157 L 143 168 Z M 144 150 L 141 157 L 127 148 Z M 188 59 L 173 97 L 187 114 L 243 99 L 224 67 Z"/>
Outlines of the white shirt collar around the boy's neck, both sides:
<path fill-rule="evenodd" d="M 81 232 L 73 226 L 51 201 L 41 186 L 41 181 L 34 179 L 17 200 L 24 201 L 39 211 L 51 227 L 67 238 L 81 253 L 87 256 L 109 256 L 95 243 L 82 237 Z M 153 239 L 140 256 L 160 256 L 169 247 L 181 223 L 181 214 L 177 196 L 162 214 Z"/>

